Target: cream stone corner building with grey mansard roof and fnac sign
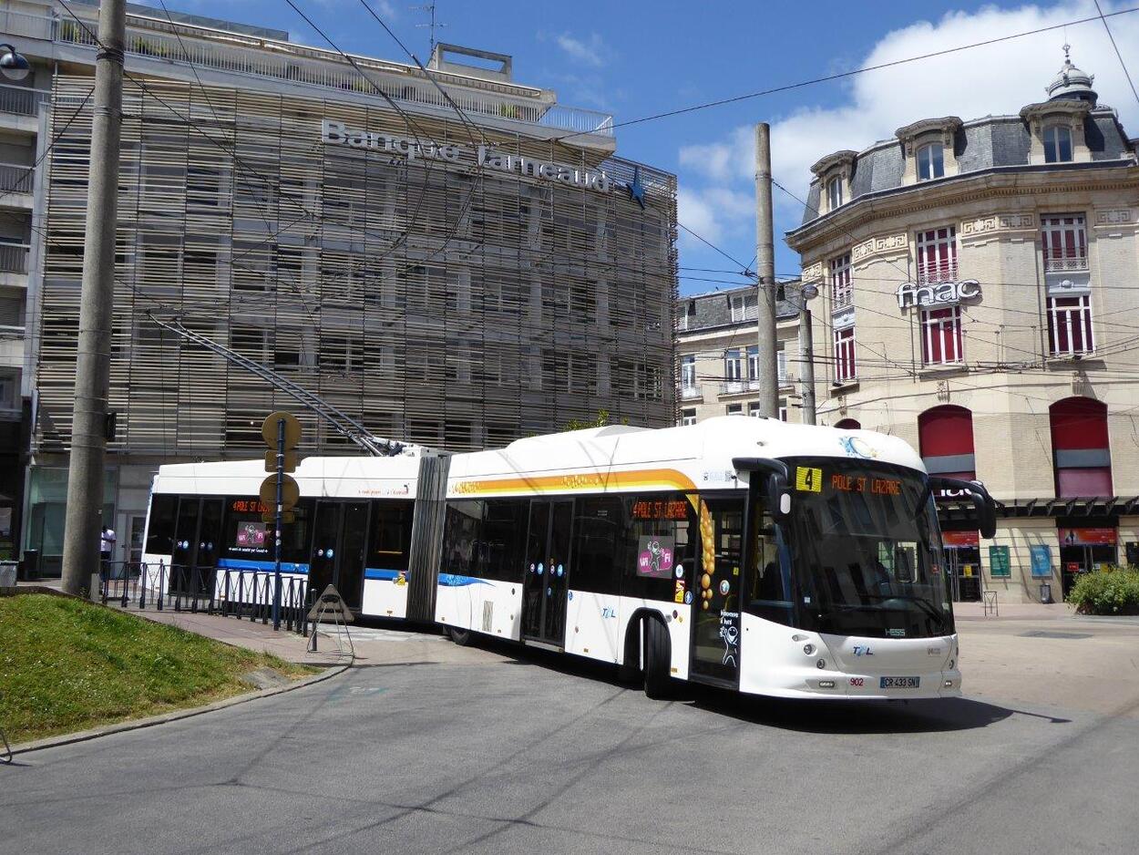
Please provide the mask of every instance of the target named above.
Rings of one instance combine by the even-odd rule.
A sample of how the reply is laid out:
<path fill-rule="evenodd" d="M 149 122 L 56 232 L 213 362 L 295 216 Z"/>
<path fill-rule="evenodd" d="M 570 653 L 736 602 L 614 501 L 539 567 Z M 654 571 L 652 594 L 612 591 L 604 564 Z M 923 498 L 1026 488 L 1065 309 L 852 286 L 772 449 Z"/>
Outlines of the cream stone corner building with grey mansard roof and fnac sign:
<path fill-rule="evenodd" d="M 1000 503 L 982 543 L 942 499 L 959 596 L 1139 563 L 1139 165 L 1092 82 L 1065 56 L 1014 115 L 828 155 L 787 235 L 827 303 L 819 422 L 900 434 Z"/>

